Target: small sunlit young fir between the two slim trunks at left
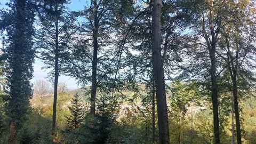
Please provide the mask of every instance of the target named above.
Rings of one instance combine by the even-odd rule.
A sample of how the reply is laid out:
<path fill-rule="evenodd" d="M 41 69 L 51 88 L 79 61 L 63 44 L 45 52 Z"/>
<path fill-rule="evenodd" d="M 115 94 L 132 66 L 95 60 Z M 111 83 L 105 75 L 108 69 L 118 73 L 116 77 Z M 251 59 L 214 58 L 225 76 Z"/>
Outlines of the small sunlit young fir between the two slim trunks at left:
<path fill-rule="evenodd" d="M 71 131 L 75 131 L 84 121 L 84 109 L 79 99 L 79 95 L 76 93 L 71 101 L 71 106 L 68 107 L 70 115 L 67 116 L 67 127 Z"/>

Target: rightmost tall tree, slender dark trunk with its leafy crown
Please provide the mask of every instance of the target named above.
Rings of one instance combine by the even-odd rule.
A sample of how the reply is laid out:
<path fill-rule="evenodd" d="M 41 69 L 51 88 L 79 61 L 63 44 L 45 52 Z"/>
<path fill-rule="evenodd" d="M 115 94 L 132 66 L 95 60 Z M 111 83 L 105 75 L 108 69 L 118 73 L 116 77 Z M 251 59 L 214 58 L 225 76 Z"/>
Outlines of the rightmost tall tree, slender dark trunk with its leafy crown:
<path fill-rule="evenodd" d="M 229 7 L 233 7 L 234 19 L 232 22 L 227 22 L 227 25 L 221 31 L 220 47 L 223 53 L 218 53 L 225 61 L 227 71 L 229 73 L 228 82 L 230 82 L 229 90 L 233 93 L 233 105 L 236 119 L 236 135 L 237 143 L 242 143 L 241 124 L 239 118 L 239 91 L 250 92 L 250 83 L 255 81 L 251 69 L 255 65 L 250 64 L 255 62 L 255 28 L 253 27 L 255 18 L 250 13 L 255 10 L 250 1 L 238 1 L 229 3 Z M 251 7 L 247 10 L 247 7 Z M 230 11 L 229 11 L 230 12 Z M 246 31 L 246 32 L 245 32 Z M 249 32 L 250 31 L 250 32 Z M 250 70 L 249 70 L 250 69 Z M 233 106 L 231 106 L 233 108 Z"/>

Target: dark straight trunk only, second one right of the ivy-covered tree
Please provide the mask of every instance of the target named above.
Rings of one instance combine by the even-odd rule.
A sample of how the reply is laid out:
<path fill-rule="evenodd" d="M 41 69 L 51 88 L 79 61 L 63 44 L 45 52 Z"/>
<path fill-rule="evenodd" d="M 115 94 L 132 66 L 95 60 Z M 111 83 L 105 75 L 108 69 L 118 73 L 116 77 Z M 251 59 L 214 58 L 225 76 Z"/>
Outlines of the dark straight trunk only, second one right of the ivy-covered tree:
<path fill-rule="evenodd" d="M 95 102 L 96 102 L 96 90 L 97 90 L 97 63 L 98 63 L 98 7 L 97 0 L 93 0 L 93 61 L 92 61 L 92 87 L 91 87 L 91 109 L 90 114 L 92 118 L 95 115 Z"/>

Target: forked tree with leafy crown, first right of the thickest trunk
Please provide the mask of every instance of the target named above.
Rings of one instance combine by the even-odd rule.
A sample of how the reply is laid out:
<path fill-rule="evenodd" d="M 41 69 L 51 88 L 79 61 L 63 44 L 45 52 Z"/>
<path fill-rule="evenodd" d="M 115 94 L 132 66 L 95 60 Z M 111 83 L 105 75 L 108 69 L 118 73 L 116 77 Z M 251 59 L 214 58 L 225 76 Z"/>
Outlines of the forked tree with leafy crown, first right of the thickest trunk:
<path fill-rule="evenodd" d="M 189 3 L 189 2 L 188 2 Z M 189 12 L 194 12 L 191 16 L 191 26 L 193 30 L 190 33 L 197 35 L 191 39 L 192 46 L 195 46 L 194 52 L 187 50 L 191 58 L 194 59 L 194 63 L 188 65 L 186 69 L 189 69 L 189 76 L 197 77 L 199 81 L 208 81 L 210 85 L 204 85 L 211 91 L 211 101 L 213 109 L 213 127 L 214 127 L 214 143 L 220 143 L 220 128 L 219 128 L 219 104 L 218 104 L 218 83 L 217 80 L 223 67 L 220 66 L 219 57 L 217 52 L 219 51 L 218 41 L 221 29 L 226 25 L 222 22 L 229 13 L 224 13 L 227 7 L 224 5 L 228 2 L 221 1 L 203 1 L 193 2 L 189 4 Z M 226 8 L 226 9 L 225 9 Z M 188 12 L 186 11 L 186 12 Z M 189 34 L 188 34 L 189 35 Z M 189 68 L 190 67 L 190 68 Z M 196 72 L 193 72 L 196 71 Z M 199 75 L 197 75 L 199 74 Z M 209 79 L 210 77 L 210 79 Z M 205 84 L 205 83 L 204 83 Z"/>

